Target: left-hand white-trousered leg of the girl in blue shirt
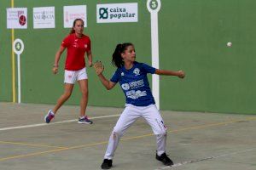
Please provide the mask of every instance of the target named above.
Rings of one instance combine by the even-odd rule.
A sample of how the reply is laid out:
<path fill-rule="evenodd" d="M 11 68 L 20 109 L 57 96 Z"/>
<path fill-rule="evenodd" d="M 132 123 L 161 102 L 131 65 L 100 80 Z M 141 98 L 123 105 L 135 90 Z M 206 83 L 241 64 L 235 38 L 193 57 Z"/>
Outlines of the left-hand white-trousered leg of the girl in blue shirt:
<path fill-rule="evenodd" d="M 140 117 L 139 112 L 137 111 L 136 107 L 127 105 L 125 107 L 125 111 L 119 117 L 118 122 L 116 123 L 115 127 L 113 127 L 113 132 L 110 135 L 108 141 L 108 148 L 106 150 L 104 159 L 112 160 L 114 151 L 116 150 L 119 139 L 123 136 L 126 129 L 134 123 L 137 118 Z"/>

